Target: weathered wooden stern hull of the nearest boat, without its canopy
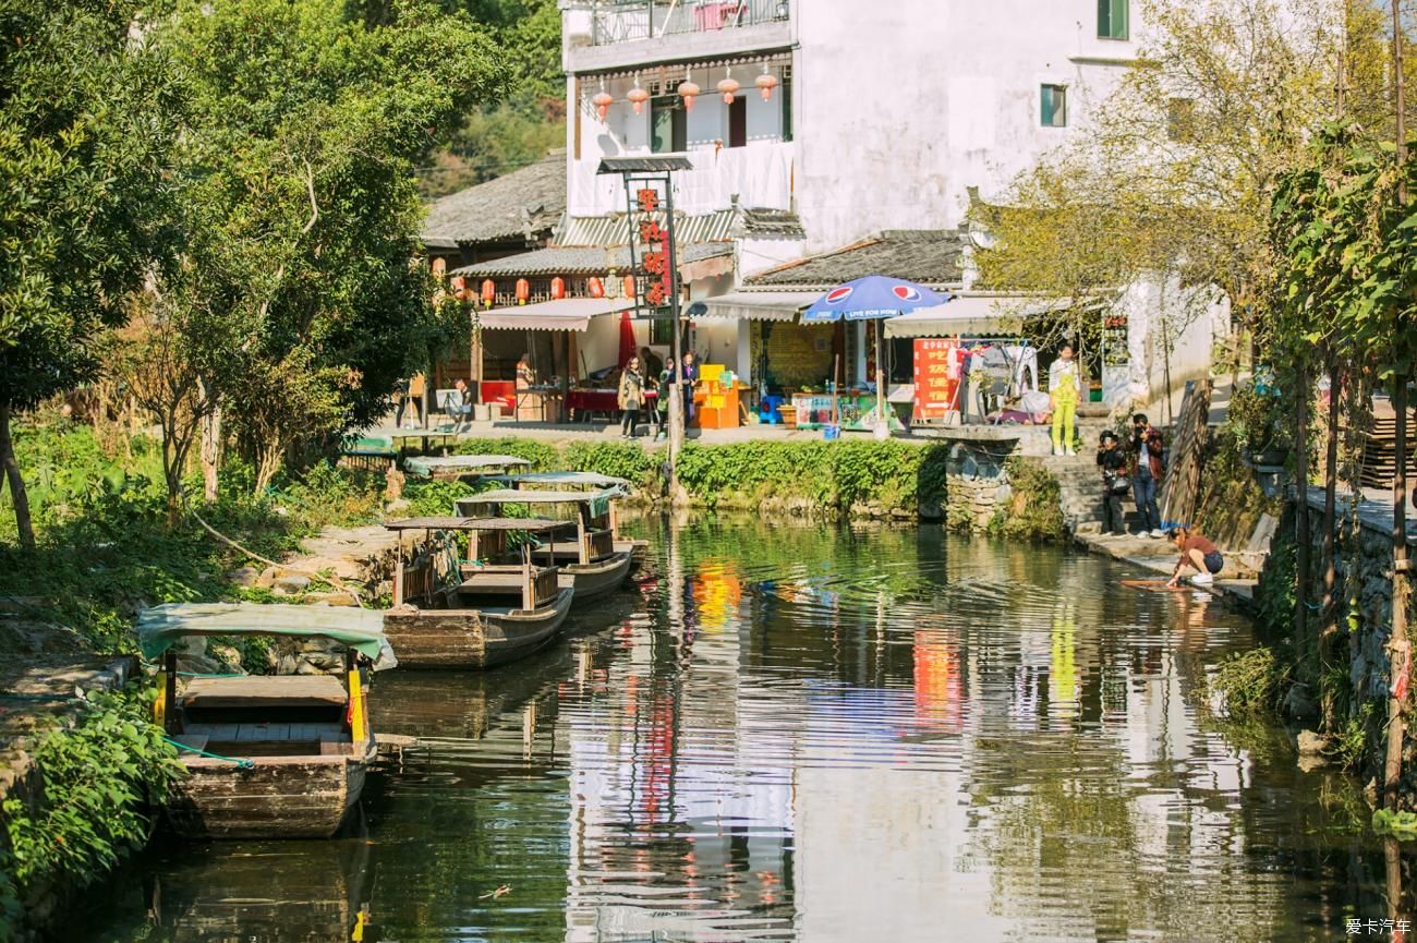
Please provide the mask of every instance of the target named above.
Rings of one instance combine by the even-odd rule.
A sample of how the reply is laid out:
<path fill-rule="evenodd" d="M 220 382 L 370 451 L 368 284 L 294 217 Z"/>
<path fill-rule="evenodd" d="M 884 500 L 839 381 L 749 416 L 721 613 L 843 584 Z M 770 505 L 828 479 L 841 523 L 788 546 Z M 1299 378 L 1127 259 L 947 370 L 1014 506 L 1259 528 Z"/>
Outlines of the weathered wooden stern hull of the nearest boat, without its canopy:
<path fill-rule="evenodd" d="M 251 769 L 184 759 L 166 814 L 186 838 L 329 838 L 364 791 L 376 747 L 354 756 L 261 756 Z"/>

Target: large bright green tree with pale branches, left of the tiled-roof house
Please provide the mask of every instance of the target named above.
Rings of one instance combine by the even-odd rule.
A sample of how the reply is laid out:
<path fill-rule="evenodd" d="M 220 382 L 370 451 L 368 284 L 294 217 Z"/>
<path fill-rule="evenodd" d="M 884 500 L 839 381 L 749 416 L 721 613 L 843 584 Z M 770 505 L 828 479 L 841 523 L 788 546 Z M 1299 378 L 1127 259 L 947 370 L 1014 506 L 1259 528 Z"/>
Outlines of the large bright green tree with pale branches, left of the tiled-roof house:
<path fill-rule="evenodd" d="M 339 0 L 184 1 L 159 41 L 193 87 L 188 251 L 169 288 L 264 489 L 299 445 L 377 418 L 449 330 L 411 264 L 414 167 L 506 67 L 425 0 L 377 21 Z"/>

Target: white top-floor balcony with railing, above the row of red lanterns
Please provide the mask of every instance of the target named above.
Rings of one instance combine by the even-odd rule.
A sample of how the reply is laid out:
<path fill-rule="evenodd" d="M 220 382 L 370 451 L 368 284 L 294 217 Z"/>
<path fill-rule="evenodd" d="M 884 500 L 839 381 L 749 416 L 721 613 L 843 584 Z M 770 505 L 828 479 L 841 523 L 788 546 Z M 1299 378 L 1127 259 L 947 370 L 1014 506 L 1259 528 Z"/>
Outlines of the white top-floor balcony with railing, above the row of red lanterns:
<path fill-rule="evenodd" d="M 565 11 L 570 72 L 792 44 L 791 0 L 581 0 L 567 4 Z"/>

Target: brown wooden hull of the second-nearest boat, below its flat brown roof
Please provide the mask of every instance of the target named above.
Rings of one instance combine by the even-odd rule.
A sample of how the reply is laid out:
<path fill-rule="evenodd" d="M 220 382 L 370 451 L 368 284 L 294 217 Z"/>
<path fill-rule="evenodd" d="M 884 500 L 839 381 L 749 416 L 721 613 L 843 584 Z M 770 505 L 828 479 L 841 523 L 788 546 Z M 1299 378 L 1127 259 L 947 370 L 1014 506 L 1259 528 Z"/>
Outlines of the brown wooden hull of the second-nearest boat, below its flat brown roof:
<path fill-rule="evenodd" d="M 571 610 L 563 588 L 538 610 L 486 613 L 476 608 L 390 610 L 384 634 L 400 668 L 482 669 L 504 665 L 550 642 Z"/>

